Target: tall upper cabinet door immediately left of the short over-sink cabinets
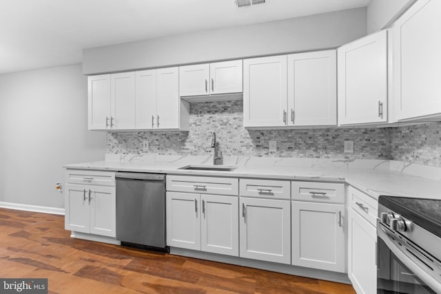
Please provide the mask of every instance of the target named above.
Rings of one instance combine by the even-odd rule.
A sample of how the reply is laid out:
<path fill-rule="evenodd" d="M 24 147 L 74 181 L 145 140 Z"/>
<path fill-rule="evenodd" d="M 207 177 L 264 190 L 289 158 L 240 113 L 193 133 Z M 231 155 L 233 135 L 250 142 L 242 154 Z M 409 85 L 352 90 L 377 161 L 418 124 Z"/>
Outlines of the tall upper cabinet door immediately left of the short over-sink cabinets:
<path fill-rule="evenodd" d="M 156 128 L 179 129 L 178 67 L 162 68 L 156 70 L 156 74 Z"/>

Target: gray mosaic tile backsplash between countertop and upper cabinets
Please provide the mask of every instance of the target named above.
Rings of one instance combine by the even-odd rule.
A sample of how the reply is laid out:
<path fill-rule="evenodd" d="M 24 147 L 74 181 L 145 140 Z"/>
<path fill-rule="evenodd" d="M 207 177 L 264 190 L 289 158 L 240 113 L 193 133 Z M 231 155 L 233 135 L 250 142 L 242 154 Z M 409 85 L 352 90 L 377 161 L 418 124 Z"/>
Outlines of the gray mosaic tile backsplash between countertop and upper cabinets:
<path fill-rule="evenodd" d="M 243 101 L 192 103 L 189 132 L 108 132 L 108 154 L 210 154 L 216 132 L 225 156 L 395 159 L 441 167 L 440 123 L 394 128 L 243 128 Z M 277 151 L 269 152 L 269 140 Z M 353 154 L 343 153 L 353 140 Z M 148 145 L 148 146 L 147 146 Z"/>

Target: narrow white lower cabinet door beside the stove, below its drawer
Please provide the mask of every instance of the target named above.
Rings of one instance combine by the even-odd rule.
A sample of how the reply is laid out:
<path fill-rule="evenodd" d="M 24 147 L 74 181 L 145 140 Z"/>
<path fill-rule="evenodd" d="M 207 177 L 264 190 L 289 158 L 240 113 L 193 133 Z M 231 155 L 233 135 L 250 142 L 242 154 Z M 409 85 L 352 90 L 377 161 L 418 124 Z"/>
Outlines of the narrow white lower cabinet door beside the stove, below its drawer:
<path fill-rule="evenodd" d="M 349 209 L 348 276 L 357 293 L 377 292 L 377 233 L 367 220 Z"/>

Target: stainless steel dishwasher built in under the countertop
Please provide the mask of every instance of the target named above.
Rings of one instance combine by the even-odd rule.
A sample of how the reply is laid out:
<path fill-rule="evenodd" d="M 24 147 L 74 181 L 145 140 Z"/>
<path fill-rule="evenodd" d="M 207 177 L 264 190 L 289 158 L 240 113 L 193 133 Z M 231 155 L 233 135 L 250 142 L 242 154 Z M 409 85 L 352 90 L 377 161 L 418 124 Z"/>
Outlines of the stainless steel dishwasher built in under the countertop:
<path fill-rule="evenodd" d="M 166 250 L 165 174 L 118 172 L 115 178 L 116 239 L 125 246 Z"/>

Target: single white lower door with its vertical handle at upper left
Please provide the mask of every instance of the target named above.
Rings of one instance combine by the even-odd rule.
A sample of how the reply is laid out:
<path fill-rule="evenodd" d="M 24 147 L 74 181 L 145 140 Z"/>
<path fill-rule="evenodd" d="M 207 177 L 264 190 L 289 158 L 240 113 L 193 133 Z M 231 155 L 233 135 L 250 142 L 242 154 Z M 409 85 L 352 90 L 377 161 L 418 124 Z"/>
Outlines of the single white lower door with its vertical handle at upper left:
<path fill-rule="evenodd" d="M 291 264 L 289 200 L 240 198 L 240 257 Z"/>

